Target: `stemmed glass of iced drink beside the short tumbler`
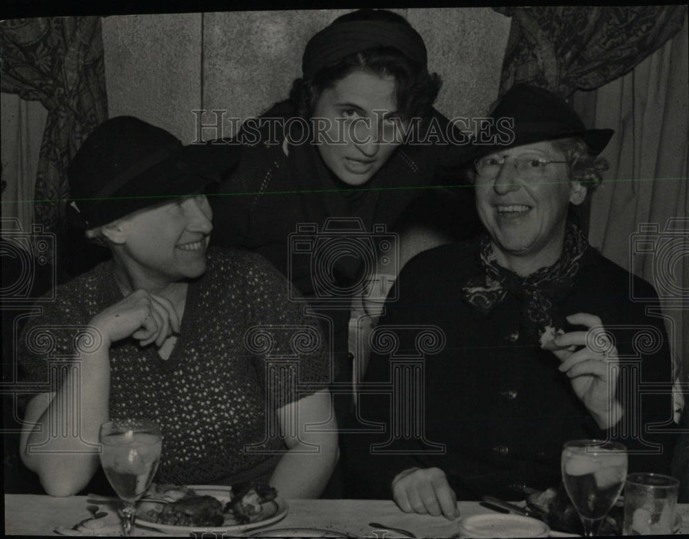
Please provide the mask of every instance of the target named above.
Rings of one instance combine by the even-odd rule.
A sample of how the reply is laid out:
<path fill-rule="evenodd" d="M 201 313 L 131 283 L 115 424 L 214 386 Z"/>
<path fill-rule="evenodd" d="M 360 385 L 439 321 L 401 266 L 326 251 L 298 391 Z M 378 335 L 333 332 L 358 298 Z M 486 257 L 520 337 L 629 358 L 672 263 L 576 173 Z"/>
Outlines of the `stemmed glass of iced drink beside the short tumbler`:
<path fill-rule="evenodd" d="M 572 440 L 562 450 L 562 480 L 584 525 L 593 537 L 615 505 L 627 475 L 626 447 L 604 440 Z"/>

